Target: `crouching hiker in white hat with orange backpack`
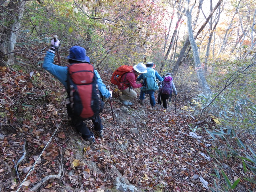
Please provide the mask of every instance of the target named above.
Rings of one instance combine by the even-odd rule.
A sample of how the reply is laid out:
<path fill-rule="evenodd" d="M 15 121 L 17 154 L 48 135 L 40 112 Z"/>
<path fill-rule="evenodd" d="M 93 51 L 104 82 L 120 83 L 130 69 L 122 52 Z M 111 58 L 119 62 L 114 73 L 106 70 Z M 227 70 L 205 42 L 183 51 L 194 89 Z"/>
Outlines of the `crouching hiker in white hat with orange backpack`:
<path fill-rule="evenodd" d="M 143 73 L 147 73 L 147 67 L 143 63 L 138 63 L 138 65 L 120 66 L 115 70 L 111 77 L 111 83 L 118 86 L 118 89 L 123 92 L 123 94 L 119 97 L 119 100 L 124 105 L 132 105 L 130 102 L 131 99 L 137 96 L 137 93 L 132 90 L 132 88 L 140 88 L 145 85 L 142 83 L 136 84 L 136 79 L 138 75 Z"/>

